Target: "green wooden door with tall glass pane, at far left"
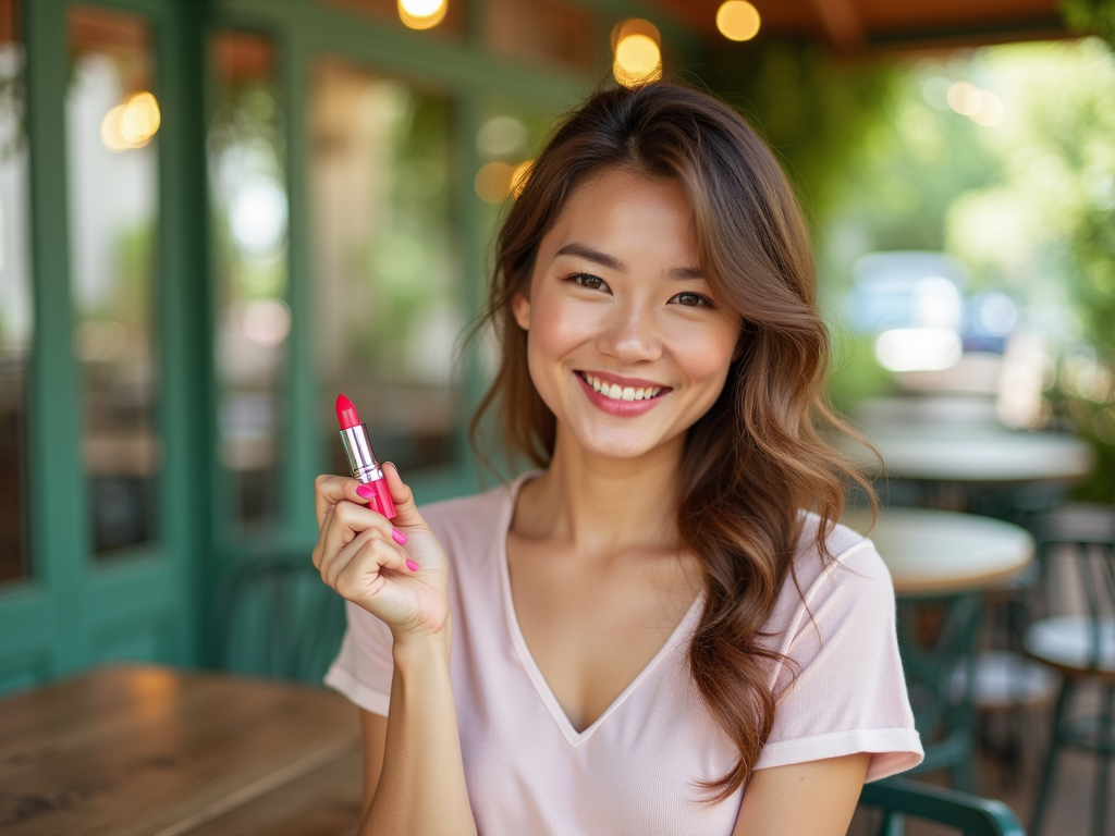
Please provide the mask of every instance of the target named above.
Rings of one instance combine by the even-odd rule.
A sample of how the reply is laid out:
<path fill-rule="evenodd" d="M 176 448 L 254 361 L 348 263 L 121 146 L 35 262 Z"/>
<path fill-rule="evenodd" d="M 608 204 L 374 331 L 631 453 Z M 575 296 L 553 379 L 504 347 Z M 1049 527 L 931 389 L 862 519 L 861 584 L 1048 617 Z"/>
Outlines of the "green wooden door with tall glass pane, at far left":
<path fill-rule="evenodd" d="M 29 560 L 0 585 L 3 690 L 197 658 L 211 341 L 185 6 L 23 3 Z"/>

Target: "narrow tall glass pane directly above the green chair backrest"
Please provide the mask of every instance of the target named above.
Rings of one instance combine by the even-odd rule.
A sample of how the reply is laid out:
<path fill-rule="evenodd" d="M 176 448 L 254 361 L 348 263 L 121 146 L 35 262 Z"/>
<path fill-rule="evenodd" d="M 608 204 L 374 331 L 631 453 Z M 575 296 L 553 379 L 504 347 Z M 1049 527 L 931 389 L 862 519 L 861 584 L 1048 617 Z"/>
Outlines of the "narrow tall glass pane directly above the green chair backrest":
<path fill-rule="evenodd" d="M 285 128 L 271 41 L 220 31 L 210 64 L 220 455 L 231 500 L 227 522 L 243 527 L 278 513 L 279 404 L 290 332 Z"/>

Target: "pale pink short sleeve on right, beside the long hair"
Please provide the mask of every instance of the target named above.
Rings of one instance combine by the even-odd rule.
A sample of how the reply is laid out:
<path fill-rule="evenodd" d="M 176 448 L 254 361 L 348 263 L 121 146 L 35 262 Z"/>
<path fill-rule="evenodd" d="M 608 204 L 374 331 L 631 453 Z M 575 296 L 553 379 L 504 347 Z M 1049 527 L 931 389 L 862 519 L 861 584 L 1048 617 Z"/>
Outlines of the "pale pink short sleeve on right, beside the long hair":
<path fill-rule="evenodd" d="M 783 650 L 789 661 L 776 679 L 774 727 L 755 768 L 871 752 L 872 781 L 920 764 L 894 587 L 871 541 L 837 556 L 803 593 Z"/>

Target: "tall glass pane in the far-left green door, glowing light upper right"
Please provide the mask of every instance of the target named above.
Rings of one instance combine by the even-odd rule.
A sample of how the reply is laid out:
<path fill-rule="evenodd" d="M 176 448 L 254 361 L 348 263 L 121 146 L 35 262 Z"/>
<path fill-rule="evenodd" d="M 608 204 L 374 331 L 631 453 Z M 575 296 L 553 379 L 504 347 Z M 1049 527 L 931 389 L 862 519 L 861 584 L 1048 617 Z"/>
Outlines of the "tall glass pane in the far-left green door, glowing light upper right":
<path fill-rule="evenodd" d="M 151 29 L 95 7 L 68 16 L 66 99 L 74 351 L 99 557 L 157 536 L 157 130 Z"/>

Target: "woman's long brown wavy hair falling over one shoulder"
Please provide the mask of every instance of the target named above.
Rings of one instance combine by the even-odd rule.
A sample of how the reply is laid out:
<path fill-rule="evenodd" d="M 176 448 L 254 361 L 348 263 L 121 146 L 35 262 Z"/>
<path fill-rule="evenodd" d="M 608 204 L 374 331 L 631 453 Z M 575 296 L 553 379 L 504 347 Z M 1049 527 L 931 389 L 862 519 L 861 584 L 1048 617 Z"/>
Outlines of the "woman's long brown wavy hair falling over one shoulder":
<path fill-rule="evenodd" d="M 736 766 L 702 782 L 706 800 L 734 794 L 750 775 L 774 723 L 774 663 L 763 633 L 791 575 L 803 508 L 822 524 L 816 546 L 844 508 L 845 490 L 867 483 L 825 443 L 850 431 L 826 406 L 828 332 L 816 307 L 813 255 L 801 208 L 770 150 L 734 110 L 668 82 L 594 94 L 556 128 L 535 159 L 498 234 L 486 311 L 502 350 L 495 378 L 469 426 L 497 408 L 501 437 L 540 467 L 553 457 L 556 418 L 526 364 L 526 332 L 511 309 L 526 291 L 539 243 L 591 172 L 622 167 L 673 177 L 692 205 L 700 266 L 714 298 L 739 314 L 743 356 L 717 401 L 686 438 L 677 509 L 679 545 L 705 573 L 705 609 L 688 650 L 701 698 L 739 752 Z M 854 434 L 853 434 L 854 435 Z"/>

